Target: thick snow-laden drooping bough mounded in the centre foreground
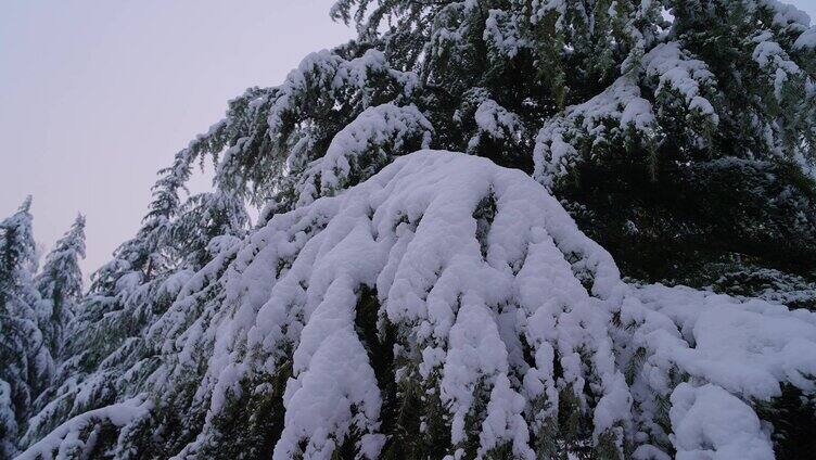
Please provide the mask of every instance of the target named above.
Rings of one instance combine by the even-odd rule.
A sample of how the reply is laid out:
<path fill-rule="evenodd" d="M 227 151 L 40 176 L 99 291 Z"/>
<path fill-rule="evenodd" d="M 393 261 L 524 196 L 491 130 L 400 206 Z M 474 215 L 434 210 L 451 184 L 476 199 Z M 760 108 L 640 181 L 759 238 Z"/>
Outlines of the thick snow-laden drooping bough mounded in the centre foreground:
<path fill-rule="evenodd" d="M 127 413 L 114 418 L 115 405 L 80 414 L 24 458 L 80 445 L 104 417 L 124 425 L 115 440 L 124 452 L 138 432 L 129 421 L 150 423 L 143 412 L 165 410 L 191 379 L 183 419 L 196 433 L 177 458 L 203 456 L 230 401 L 271 393 L 266 376 L 289 365 L 276 459 L 329 459 L 348 443 L 377 458 L 396 436 L 385 406 L 411 385 L 423 409 L 434 400 L 442 409 L 438 420 L 425 414 L 417 437 L 442 423 L 451 458 L 589 448 L 770 459 L 753 405 L 779 395 L 780 383 L 814 391 L 816 315 L 628 285 L 544 187 L 485 158 L 406 155 L 217 246 L 149 334 L 163 361 L 150 376 L 155 403 L 119 395 Z M 366 289 L 380 336 L 396 331 L 392 344 L 360 332 L 359 309 L 374 308 L 360 303 Z M 395 394 L 372 365 L 377 346 L 394 354 Z M 206 413 L 193 425 L 196 411 Z M 559 432 L 560 411 L 586 432 Z"/>

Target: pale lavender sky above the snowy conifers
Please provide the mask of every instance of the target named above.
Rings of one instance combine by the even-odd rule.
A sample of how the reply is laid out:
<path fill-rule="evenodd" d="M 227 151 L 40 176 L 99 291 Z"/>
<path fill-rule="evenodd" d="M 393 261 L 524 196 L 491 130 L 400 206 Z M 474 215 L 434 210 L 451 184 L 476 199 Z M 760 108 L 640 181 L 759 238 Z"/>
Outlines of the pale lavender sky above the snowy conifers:
<path fill-rule="evenodd" d="M 332 3 L 0 0 L 0 216 L 34 195 L 48 248 L 81 212 L 88 274 L 138 230 L 156 170 L 228 100 L 352 37 Z M 816 17 L 816 0 L 792 3 Z"/>

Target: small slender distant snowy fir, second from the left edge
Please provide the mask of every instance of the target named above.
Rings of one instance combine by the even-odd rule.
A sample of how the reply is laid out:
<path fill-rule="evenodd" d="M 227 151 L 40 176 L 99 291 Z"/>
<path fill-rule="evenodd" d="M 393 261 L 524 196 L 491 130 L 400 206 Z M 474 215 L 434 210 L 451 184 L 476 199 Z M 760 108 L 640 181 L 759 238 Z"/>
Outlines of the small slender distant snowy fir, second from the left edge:
<path fill-rule="evenodd" d="M 52 357 L 59 358 L 68 322 L 74 318 L 77 299 L 82 294 L 79 259 L 85 258 L 85 216 L 77 216 L 71 229 L 54 243 L 35 284 L 42 298 L 43 340 Z"/>

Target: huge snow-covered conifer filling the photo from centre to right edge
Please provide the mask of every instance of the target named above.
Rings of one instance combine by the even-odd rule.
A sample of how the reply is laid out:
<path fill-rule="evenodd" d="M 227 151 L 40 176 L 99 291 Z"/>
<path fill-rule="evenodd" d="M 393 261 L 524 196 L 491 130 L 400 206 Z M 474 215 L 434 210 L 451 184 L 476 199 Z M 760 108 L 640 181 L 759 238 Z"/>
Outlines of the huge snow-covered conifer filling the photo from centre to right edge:
<path fill-rule="evenodd" d="M 774 0 L 331 14 L 357 39 L 248 89 L 161 171 L 93 277 L 23 458 L 816 448 L 806 15 Z M 209 159 L 213 190 L 183 200 Z M 254 229 L 244 203 L 263 208 Z"/>

